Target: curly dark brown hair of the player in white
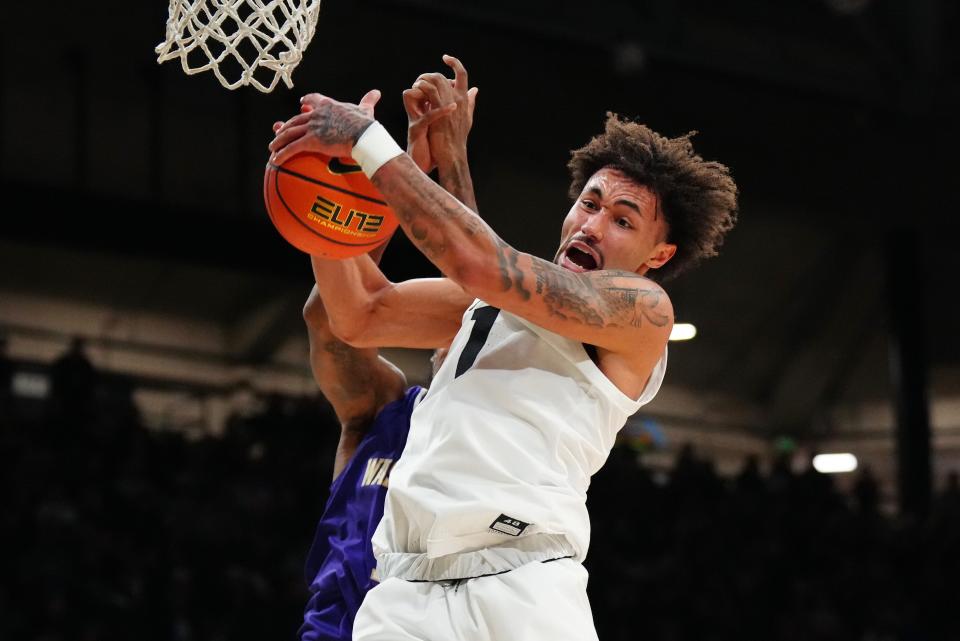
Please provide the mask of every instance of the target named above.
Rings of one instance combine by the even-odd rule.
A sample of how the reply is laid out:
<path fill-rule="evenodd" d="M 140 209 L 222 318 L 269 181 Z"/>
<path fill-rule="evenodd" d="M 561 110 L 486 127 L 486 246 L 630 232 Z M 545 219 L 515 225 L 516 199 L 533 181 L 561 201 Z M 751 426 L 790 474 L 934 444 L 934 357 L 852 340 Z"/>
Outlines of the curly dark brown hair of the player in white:
<path fill-rule="evenodd" d="M 667 221 L 667 241 L 677 253 L 648 276 L 665 281 L 717 255 L 737 222 L 737 185 L 730 170 L 693 150 L 690 132 L 661 136 L 646 125 L 607 113 L 604 132 L 572 152 L 570 196 L 577 198 L 593 174 L 610 167 L 649 187 Z"/>

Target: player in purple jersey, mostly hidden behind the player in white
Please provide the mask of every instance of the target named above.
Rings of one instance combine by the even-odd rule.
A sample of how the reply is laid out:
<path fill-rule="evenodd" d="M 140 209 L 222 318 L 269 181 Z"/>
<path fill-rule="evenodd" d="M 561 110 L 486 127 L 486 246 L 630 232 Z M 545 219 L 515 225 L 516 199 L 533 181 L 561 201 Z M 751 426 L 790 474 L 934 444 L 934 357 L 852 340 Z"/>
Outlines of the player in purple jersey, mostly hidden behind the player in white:
<path fill-rule="evenodd" d="M 466 82 L 465 77 L 461 82 Z M 431 105 L 416 88 L 405 91 L 403 96 L 409 118 L 408 153 L 424 171 L 437 166 L 440 184 L 474 210 L 476 200 L 466 161 L 466 137 L 472 125 L 476 94 L 477 89 L 472 88 L 463 95 L 463 111 L 457 119 L 459 135 L 442 142 L 432 141 L 433 148 L 444 149 L 450 159 L 431 156 L 427 132 L 429 125 L 448 116 L 451 110 Z M 381 246 L 371 252 L 370 258 L 378 262 L 383 249 Z M 313 261 L 319 276 L 323 261 Z M 458 300 L 436 298 L 424 304 L 428 302 L 444 315 L 449 315 L 451 305 L 459 304 Z M 304 306 L 304 320 L 314 379 L 333 406 L 341 430 L 330 497 L 307 556 L 305 574 L 310 599 L 298 636 L 301 641 L 348 641 L 352 638 L 354 616 L 366 593 L 377 583 L 370 539 L 383 516 L 387 481 L 406 443 L 410 415 L 425 390 L 413 386 L 404 391 L 403 373 L 376 349 L 353 348 L 338 339 L 330 331 L 316 287 Z M 458 324 L 451 325 L 451 335 Z M 434 372 L 445 354 L 446 349 L 434 352 Z"/>

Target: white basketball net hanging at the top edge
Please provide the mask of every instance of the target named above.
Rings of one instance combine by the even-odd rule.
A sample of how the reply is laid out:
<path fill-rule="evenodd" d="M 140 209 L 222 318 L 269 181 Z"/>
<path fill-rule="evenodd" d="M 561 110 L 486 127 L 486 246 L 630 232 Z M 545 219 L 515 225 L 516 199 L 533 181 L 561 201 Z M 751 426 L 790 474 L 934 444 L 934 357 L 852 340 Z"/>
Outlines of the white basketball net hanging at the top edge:
<path fill-rule="evenodd" d="M 269 93 L 303 59 L 320 0 L 170 0 L 167 37 L 157 62 L 180 59 L 187 74 L 212 70 L 227 89 Z"/>

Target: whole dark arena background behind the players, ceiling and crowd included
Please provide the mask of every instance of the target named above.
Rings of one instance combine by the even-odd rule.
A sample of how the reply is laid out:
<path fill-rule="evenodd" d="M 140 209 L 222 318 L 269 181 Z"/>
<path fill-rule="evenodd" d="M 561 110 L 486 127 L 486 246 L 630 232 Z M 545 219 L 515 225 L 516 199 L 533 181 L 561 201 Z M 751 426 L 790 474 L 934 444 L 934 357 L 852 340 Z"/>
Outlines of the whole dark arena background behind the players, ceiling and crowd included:
<path fill-rule="evenodd" d="M 158 65 L 166 13 L 3 9 L 0 639 L 294 639 L 338 426 L 270 125 L 376 87 L 402 140 L 444 53 L 519 249 L 552 257 L 608 110 L 697 130 L 740 186 L 721 255 L 667 286 L 697 335 L 590 488 L 600 639 L 960 639 L 958 3 L 325 0 L 269 95 Z M 402 234 L 383 266 L 434 273 Z"/>

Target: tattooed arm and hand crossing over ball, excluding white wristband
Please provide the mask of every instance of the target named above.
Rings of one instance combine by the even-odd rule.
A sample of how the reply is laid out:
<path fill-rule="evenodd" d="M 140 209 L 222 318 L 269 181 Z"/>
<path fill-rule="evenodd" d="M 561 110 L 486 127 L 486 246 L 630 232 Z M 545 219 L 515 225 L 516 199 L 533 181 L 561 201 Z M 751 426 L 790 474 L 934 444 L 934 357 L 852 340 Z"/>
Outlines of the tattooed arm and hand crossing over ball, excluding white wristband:
<path fill-rule="evenodd" d="M 270 144 L 277 160 L 301 150 L 349 153 L 372 122 L 372 109 L 310 94 L 303 127 L 281 130 Z M 664 291 L 630 272 L 574 273 L 519 252 L 475 213 L 431 181 L 405 154 L 373 176 L 404 233 L 469 295 L 571 339 L 621 356 L 649 372 L 673 323 Z"/>

